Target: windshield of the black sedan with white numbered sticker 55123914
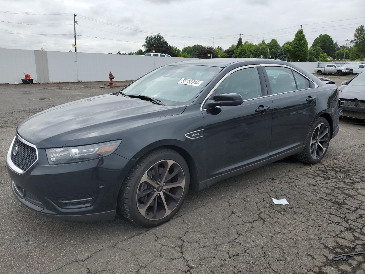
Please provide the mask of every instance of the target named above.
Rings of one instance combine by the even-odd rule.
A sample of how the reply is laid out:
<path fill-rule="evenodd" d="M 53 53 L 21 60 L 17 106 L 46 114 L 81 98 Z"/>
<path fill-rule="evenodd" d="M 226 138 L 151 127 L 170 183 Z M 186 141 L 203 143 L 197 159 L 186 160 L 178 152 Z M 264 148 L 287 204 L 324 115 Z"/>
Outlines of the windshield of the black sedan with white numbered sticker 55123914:
<path fill-rule="evenodd" d="M 214 66 L 172 65 L 158 68 L 124 88 L 124 95 L 146 95 L 166 105 L 190 104 L 220 72 Z"/>

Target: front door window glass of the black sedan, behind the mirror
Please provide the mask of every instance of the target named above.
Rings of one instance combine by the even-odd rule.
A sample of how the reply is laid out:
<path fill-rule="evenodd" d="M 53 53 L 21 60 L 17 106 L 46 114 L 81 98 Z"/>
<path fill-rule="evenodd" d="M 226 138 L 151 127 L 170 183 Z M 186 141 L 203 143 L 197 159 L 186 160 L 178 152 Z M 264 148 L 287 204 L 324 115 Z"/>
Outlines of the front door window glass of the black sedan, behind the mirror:
<path fill-rule="evenodd" d="M 235 71 L 217 87 L 214 94 L 238 93 L 242 100 L 261 97 L 261 84 L 257 68 Z"/>

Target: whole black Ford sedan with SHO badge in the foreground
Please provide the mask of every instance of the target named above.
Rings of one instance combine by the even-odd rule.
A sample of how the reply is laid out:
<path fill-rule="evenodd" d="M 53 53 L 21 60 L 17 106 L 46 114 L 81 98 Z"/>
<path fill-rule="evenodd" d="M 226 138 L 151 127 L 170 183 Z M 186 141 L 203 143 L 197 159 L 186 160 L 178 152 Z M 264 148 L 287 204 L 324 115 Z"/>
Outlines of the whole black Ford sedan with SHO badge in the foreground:
<path fill-rule="evenodd" d="M 22 122 L 7 156 L 15 197 L 61 220 L 169 220 L 188 189 L 290 155 L 316 164 L 338 132 L 336 85 L 283 61 L 162 66 L 120 92 Z"/>

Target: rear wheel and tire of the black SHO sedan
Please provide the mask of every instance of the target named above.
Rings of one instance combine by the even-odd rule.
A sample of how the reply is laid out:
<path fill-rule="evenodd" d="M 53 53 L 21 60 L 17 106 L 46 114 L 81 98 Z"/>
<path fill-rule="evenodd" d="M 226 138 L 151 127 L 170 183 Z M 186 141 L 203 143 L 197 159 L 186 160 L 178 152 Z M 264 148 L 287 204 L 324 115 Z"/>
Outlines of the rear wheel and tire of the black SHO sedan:
<path fill-rule="evenodd" d="M 327 133 L 325 133 L 325 130 L 322 131 L 322 129 L 327 129 Z M 313 121 L 304 141 L 304 149 L 301 153 L 295 155 L 296 159 L 306 164 L 319 163 L 328 150 L 331 136 L 330 130 L 330 124 L 323 117 Z M 318 139 L 317 137 L 320 137 L 323 133 L 323 137 Z"/>

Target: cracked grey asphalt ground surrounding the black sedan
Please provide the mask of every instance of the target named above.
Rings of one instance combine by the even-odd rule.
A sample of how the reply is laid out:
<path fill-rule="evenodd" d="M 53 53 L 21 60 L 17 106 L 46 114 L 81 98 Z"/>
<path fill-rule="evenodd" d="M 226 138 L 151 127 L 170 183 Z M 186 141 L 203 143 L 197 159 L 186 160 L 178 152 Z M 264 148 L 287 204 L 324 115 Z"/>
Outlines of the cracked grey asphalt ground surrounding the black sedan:
<path fill-rule="evenodd" d="M 178 214 L 156 228 L 120 216 L 61 222 L 24 208 L 5 167 L 16 125 L 42 109 L 109 92 L 99 86 L 0 86 L 0 273 L 365 273 L 365 254 L 332 260 L 365 251 L 365 123 L 359 120 L 341 120 L 319 164 L 283 159 L 189 193 Z"/>

